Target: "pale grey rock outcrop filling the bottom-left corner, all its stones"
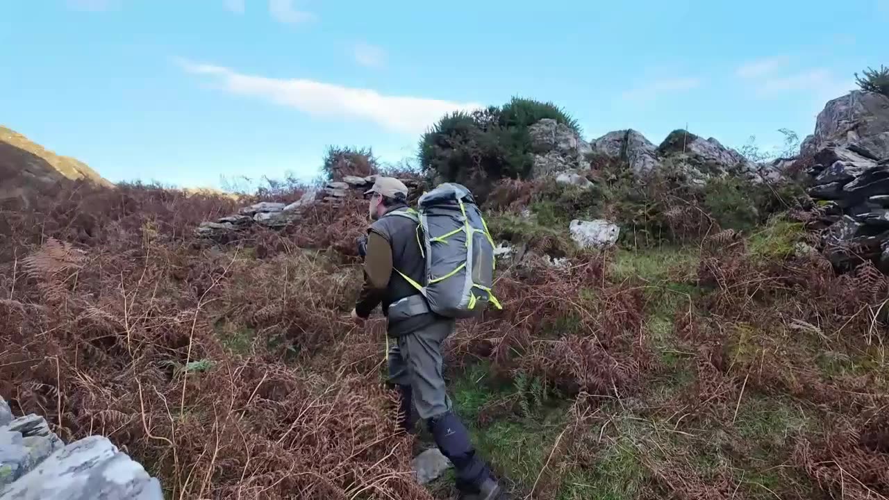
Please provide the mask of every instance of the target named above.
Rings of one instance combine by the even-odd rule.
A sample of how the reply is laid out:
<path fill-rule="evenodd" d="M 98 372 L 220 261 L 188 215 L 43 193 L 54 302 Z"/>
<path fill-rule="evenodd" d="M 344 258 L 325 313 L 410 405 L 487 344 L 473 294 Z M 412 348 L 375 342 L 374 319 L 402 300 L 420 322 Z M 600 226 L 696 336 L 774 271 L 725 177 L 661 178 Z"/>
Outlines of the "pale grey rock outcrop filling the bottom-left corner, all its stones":
<path fill-rule="evenodd" d="M 0 399 L 0 499 L 163 500 L 160 483 L 101 436 L 67 446 L 37 415 Z"/>

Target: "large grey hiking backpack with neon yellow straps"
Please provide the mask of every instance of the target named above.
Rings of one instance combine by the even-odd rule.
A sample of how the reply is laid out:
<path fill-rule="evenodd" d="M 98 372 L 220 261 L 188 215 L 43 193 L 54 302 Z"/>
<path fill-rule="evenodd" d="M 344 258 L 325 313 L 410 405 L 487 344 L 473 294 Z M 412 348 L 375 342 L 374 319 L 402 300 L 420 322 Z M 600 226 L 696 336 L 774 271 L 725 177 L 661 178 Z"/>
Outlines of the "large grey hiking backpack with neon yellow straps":
<path fill-rule="evenodd" d="M 494 245 L 475 198 L 464 186 L 445 182 L 424 193 L 418 210 L 389 213 L 417 222 L 417 243 L 426 257 L 426 284 L 396 272 L 426 297 L 429 309 L 447 318 L 470 318 L 491 304 Z M 422 230 L 422 234 L 420 234 Z"/>

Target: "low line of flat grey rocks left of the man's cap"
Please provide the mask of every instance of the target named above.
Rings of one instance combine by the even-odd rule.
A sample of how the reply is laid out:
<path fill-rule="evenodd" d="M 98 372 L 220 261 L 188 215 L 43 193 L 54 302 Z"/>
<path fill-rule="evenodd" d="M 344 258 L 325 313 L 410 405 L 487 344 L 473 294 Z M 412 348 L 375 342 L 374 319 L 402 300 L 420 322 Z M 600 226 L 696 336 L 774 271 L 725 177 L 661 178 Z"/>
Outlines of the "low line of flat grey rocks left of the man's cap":
<path fill-rule="evenodd" d="M 327 182 L 320 190 L 308 190 L 292 203 L 276 203 L 263 201 L 251 206 L 244 206 L 237 214 L 221 217 L 216 221 L 202 222 L 196 229 L 196 235 L 212 241 L 225 242 L 238 231 L 252 227 L 254 224 L 269 229 L 279 230 L 293 222 L 298 222 L 305 209 L 316 204 L 339 205 L 348 198 L 364 196 L 376 180 L 376 175 L 368 177 L 346 176 L 342 181 Z M 420 181 L 402 179 L 411 190 L 418 190 Z"/>

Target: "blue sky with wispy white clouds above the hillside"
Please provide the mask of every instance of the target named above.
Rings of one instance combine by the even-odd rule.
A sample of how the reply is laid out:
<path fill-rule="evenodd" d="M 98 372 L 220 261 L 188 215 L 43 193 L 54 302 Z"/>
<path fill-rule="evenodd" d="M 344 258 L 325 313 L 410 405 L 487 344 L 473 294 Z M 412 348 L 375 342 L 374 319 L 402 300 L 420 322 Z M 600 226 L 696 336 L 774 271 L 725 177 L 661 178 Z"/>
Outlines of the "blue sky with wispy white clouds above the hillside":
<path fill-rule="evenodd" d="M 889 0 L 0 3 L 0 125 L 111 181 L 411 157 L 451 109 L 555 101 L 586 139 L 685 127 L 769 149 L 889 64 Z"/>

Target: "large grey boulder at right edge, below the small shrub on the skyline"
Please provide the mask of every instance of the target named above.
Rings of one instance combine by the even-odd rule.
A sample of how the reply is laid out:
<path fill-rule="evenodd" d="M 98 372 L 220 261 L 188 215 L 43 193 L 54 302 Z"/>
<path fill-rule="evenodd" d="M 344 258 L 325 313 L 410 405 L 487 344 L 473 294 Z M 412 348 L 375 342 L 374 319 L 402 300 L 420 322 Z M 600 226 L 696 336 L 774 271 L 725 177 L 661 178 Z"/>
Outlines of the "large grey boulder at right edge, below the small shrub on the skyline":
<path fill-rule="evenodd" d="M 831 145 L 864 149 L 872 158 L 889 157 L 889 97 L 853 91 L 828 101 L 800 152 L 809 156 Z"/>

